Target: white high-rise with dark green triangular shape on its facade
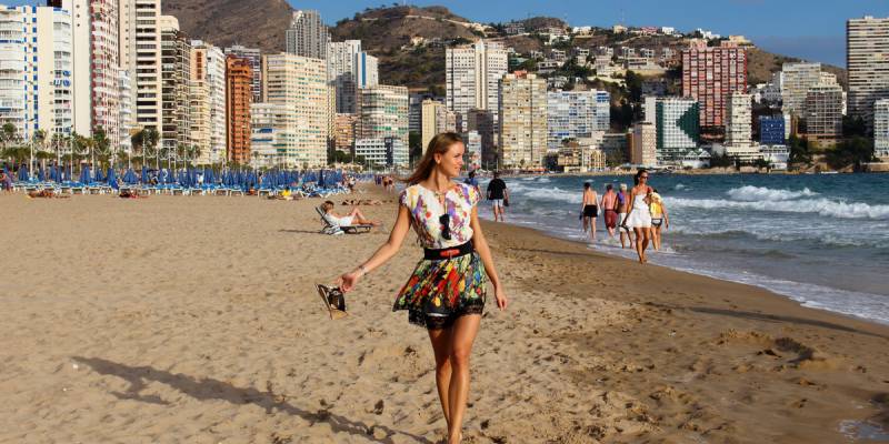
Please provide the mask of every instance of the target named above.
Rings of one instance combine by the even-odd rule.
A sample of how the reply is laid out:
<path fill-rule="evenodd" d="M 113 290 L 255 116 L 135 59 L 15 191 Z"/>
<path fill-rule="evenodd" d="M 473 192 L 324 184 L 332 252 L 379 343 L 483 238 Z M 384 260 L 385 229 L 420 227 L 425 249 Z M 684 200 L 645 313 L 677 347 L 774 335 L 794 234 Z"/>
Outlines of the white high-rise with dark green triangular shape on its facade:
<path fill-rule="evenodd" d="M 700 107 L 688 98 L 659 98 L 656 102 L 658 164 L 678 164 L 700 141 Z"/>

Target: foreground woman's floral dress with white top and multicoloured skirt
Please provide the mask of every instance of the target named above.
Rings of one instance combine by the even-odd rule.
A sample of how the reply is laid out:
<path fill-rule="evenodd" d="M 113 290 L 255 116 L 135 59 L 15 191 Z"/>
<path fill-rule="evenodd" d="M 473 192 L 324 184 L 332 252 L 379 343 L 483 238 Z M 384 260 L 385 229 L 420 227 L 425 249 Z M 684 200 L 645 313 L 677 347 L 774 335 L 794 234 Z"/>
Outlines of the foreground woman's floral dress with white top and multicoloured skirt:
<path fill-rule="evenodd" d="M 442 201 L 436 192 L 419 184 L 407 188 L 400 204 L 411 213 L 411 225 L 424 249 L 448 249 L 472 240 L 470 220 L 481 196 L 477 188 L 455 184 Z M 441 215 L 450 216 L 451 239 L 441 236 Z M 485 309 L 485 268 L 478 253 L 452 259 L 422 260 L 396 297 L 393 311 L 407 310 L 408 321 L 429 329 L 462 314 L 480 314 Z"/>

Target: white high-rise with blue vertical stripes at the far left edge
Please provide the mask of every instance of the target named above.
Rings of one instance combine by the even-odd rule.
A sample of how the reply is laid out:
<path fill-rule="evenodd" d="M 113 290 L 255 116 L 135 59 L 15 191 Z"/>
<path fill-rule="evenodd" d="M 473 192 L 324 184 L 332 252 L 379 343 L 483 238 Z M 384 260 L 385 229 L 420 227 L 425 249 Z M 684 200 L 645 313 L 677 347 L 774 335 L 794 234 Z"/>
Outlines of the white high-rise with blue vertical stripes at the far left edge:
<path fill-rule="evenodd" d="M 71 34 L 67 10 L 0 6 L 0 124 L 24 140 L 72 131 Z"/>

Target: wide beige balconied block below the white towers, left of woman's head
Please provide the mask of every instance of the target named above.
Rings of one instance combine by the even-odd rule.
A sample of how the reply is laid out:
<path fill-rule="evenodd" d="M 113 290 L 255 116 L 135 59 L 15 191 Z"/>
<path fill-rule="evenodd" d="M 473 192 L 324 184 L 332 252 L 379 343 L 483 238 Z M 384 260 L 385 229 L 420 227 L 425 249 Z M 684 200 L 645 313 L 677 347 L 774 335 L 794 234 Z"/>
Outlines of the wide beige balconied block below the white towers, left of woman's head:
<path fill-rule="evenodd" d="M 378 84 L 358 90 L 354 139 L 396 138 L 407 147 L 408 89 Z"/>

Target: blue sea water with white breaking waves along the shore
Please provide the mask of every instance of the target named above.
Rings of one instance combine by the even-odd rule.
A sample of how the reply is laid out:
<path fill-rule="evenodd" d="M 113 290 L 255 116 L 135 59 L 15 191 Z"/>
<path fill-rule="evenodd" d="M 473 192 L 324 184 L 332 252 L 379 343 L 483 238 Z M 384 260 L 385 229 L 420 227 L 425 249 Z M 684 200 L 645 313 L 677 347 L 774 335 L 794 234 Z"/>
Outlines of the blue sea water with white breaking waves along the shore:
<path fill-rule="evenodd" d="M 597 242 L 588 241 L 579 220 L 585 182 L 601 195 L 609 183 L 632 188 L 632 176 L 506 181 L 508 222 L 636 258 L 609 239 L 601 210 Z M 651 263 L 889 324 L 889 175 L 651 173 L 649 184 L 670 216 L 663 248 L 649 250 Z M 492 218 L 489 205 L 482 204 L 480 214 Z"/>

